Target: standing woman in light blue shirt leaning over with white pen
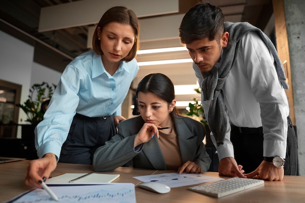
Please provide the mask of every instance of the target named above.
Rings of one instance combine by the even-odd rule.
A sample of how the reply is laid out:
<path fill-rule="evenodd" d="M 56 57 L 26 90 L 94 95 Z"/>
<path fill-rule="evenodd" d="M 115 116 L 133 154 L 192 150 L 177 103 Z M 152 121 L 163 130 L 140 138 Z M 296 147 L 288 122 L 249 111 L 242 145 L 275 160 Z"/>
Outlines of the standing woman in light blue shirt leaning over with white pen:
<path fill-rule="evenodd" d="M 93 50 L 77 56 L 63 71 L 35 145 L 39 159 L 30 162 L 26 186 L 41 188 L 57 161 L 92 164 L 95 149 L 116 134 L 125 120 L 121 105 L 139 67 L 139 23 L 134 12 L 116 6 L 98 22 Z"/>

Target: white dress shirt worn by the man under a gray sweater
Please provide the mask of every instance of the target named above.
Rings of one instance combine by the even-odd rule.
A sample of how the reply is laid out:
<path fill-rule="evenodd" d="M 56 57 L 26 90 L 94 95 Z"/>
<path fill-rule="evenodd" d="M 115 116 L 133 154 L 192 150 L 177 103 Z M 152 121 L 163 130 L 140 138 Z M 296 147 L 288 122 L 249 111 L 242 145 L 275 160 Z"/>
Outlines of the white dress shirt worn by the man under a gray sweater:
<path fill-rule="evenodd" d="M 287 116 L 289 106 L 286 93 L 274 68 L 273 56 L 260 36 L 249 32 L 241 39 L 236 62 L 224 85 L 227 116 L 227 133 L 223 145 L 217 146 L 211 133 L 219 160 L 234 157 L 230 142 L 230 123 L 238 127 L 257 128 L 263 126 L 264 156 L 286 157 Z M 219 64 L 216 64 L 217 66 Z M 203 78 L 193 63 L 199 84 Z M 202 106 L 208 118 L 210 101 Z"/>

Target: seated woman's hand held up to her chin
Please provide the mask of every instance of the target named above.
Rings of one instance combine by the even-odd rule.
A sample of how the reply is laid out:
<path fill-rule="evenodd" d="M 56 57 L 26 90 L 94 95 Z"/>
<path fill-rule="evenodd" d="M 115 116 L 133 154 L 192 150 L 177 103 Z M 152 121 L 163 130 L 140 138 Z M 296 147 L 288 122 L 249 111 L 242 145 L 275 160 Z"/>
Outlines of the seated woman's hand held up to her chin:
<path fill-rule="evenodd" d="M 144 123 L 138 134 L 135 136 L 134 147 L 150 141 L 154 135 L 159 137 L 158 126 L 152 123 Z"/>

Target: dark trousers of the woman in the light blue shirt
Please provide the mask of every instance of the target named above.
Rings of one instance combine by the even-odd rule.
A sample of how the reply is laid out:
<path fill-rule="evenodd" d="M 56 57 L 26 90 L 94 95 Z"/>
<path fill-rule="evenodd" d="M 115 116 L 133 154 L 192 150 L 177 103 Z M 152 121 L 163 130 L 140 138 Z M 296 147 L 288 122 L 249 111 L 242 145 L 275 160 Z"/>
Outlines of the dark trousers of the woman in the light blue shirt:
<path fill-rule="evenodd" d="M 59 162 L 92 164 L 95 150 L 116 134 L 114 117 L 90 118 L 76 114 L 62 145 Z"/>

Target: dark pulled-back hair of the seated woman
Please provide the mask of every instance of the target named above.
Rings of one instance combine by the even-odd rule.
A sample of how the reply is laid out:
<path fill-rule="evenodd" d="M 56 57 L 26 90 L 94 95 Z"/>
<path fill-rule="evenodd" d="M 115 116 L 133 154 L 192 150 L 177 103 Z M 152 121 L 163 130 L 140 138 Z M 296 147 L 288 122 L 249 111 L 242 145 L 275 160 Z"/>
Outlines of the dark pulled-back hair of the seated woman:
<path fill-rule="evenodd" d="M 172 81 L 169 77 L 162 73 L 151 73 L 146 75 L 139 83 L 135 96 L 138 97 L 138 93 L 151 92 L 161 100 L 164 100 L 170 105 L 175 99 L 175 90 Z M 171 118 L 174 114 L 178 114 L 176 107 L 171 112 Z"/>

